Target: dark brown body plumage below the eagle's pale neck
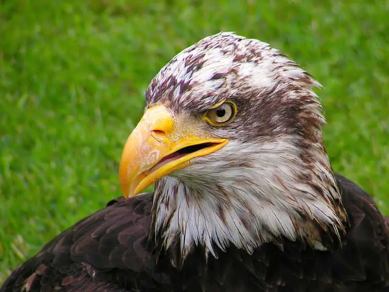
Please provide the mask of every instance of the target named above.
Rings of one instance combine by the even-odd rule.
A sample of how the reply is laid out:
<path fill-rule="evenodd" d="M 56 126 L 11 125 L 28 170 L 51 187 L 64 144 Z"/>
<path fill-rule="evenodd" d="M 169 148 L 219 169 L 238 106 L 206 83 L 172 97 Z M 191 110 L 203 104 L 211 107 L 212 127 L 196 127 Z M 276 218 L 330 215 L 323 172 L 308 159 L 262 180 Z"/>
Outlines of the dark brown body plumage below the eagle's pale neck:
<path fill-rule="evenodd" d="M 267 243 L 250 256 L 230 248 L 208 263 L 197 250 L 178 270 L 146 247 L 152 194 L 142 194 L 113 200 L 63 232 L 0 291 L 389 291 L 389 221 L 357 185 L 336 179 L 350 224 L 341 248 L 320 252 L 283 239 L 283 249 Z"/>

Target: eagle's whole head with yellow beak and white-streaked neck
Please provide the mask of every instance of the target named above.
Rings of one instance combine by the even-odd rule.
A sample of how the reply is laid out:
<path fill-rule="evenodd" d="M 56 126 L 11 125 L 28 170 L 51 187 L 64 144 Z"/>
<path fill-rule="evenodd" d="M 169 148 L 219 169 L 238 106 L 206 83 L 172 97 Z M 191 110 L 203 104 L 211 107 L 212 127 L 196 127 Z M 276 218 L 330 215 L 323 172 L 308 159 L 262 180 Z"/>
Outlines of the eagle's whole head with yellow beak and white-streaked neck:
<path fill-rule="evenodd" d="M 251 253 L 286 237 L 326 249 L 345 212 L 307 72 L 268 44 L 209 36 L 164 66 L 123 150 L 126 197 L 156 182 L 151 238 Z M 157 236 L 158 235 L 158 236 Z"/>

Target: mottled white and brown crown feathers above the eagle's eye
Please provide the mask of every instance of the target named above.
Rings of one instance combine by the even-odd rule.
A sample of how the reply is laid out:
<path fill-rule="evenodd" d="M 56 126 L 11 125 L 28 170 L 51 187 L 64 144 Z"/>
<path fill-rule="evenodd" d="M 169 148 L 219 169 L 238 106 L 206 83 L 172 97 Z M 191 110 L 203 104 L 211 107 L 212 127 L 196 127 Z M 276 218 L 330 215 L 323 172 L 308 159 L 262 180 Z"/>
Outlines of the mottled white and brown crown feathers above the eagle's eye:
<path fill-rule="evenodd" d="M 320 85 L 307 72 L 268 44 L 219 33 L 172 58 L 150 83 L 146 101 L 201 114 L 233 98 L 241 114 L 230 128 L 243 139 L 252 136 L 253 126 L 261 135 L 314 135 L 325 123 L 315 86 Z M 247 117 L 255 117 L 255 124 Z"/>

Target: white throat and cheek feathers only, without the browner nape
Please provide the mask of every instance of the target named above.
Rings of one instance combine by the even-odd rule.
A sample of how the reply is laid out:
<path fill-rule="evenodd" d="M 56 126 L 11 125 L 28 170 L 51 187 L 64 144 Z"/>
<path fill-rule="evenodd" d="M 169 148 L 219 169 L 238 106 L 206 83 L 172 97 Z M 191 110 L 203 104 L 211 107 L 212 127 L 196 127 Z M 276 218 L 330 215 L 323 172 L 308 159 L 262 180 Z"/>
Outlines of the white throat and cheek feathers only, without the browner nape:
<path fill-rule="evenodd" d="M 240 142 L 230 141 L 220 151 L 196 158 L 188 168 L 164 177 L 164 187 L 155 196 L 169 197 L 169 208 L 175 210 L 172 220 L 165 225 L 166 207 L 163 204 L 158 207 L 156 228 L 165 225 L 166 247 L 179 234 L 183 256 L 198 244 L 205 245 L 213 254 L 214 243 L 221 249 L 233 244 L 251 253 L 253 248 L 275 237 L 282 235 L 294 241 L 305 234 L 298 230 L 305 226 L 299 215 L 301 210 L 309 214 L 310 220 L 340 225 L 333 206 L 326 200 L 326 197 L 339 198 L 336 189 L 323 189 L 326 192 L 323 197 L 297 179 L 298 174 L 306 172 L 304 164 L 296 160 L 298 151 L 287 141 L 252 142 L 244 147 Z M 231 166 L 231 161 L 238 157 L 250 161 L 250 165 Z M 332 177 L 326 169 L 318 170 Z M 228 192 L 227 198 L 221 189 Z M 220 206 L 225 221 L 218 214 Z"/>

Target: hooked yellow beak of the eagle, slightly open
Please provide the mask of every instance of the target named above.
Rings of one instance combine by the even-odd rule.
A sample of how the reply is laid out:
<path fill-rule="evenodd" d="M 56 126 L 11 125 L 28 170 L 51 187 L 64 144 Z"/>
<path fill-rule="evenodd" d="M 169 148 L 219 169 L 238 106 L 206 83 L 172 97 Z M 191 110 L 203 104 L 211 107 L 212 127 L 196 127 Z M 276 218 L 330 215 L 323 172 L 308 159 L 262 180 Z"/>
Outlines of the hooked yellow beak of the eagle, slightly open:
<path fill-rule="evenodd" d="M 154 106 L 144 113 L 128 137 L 120 160 L 119 176 L 124 197 L 139 194 L 190 160 L 221 149 L 228 139 L 202 138 L 190 127 L 177 129 L 170 111 Z"/>

